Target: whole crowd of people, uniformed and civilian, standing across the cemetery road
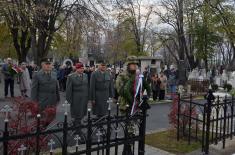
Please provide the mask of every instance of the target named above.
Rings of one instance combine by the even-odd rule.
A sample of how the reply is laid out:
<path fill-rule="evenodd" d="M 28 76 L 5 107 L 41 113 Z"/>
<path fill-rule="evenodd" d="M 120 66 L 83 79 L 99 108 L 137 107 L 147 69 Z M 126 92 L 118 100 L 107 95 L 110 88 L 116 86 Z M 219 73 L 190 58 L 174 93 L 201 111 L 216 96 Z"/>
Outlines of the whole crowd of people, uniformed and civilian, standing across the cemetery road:
<path fill-rule="evenodd" d="M 143 94 L 144 90 L 149 97 L 152 95 L 154 101 L 164 100 L 167 90 L 176 92 L 177 71 L 174 66 L 159 74 L 150 74 L 146 68 L 143 76 L 140 76 L 142 74 L 135 59 L 128 58 L 126 69 L 117 72 L 114 68 L 107 68 L 104 61 L 99 62 L 98 68 L 85 67 L 82 63 L 56 68 L 52 59 L 45 58 L 39 69 L 25 62 L 16 66 L 8 58 L 2 66 L 5 97 L 8 97 L 9 87 L 10 95 L 14 97 L 14 81 L 17 80 L 21 95 L 37 102 L 40 111 L 43 111 L 48 106 L 56 106 L 60 101 L 60 91 L 65 92 L 66 100 L 71 105 L 71 116 L 76 124 L 80 124 L 86 115 L 88 103 L 92 105 L 93 114 L 102 117 L 107 114 L 107 100 L 110 98 L 117 100 L 120 109 L 126 112 L 127 104 L 132 108 L 134 103 L 141 102 L 137 96 Z"/>

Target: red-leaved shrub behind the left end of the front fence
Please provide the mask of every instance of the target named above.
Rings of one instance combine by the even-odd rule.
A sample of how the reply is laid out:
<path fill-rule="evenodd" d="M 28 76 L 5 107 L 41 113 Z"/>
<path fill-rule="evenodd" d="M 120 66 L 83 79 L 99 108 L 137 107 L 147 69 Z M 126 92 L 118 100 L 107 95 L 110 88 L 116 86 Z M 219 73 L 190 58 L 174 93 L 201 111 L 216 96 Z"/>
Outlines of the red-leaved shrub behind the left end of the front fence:
<path fill-rule="evenodd" d="M 13 111 L 9 114 L 9 131 L 11 135 L 28 134 L 36 131 L 37 114 L 39 112 L 38 103 L 30 101 L 23 97 L 16 97 L 12 100 Z M 40 130 L 43 132 L 56 116 L 56 107 L 48 107 L 41 113 Z M 40 136 L 39 147 L 46 149 L 50 136 Z M 19 139 L 9 141 L 8 147 L 11 149 L 9 154 L 17 154 L 18 148 L 24 144 L 27 152 L 35 151 L 36 138 Z"/>

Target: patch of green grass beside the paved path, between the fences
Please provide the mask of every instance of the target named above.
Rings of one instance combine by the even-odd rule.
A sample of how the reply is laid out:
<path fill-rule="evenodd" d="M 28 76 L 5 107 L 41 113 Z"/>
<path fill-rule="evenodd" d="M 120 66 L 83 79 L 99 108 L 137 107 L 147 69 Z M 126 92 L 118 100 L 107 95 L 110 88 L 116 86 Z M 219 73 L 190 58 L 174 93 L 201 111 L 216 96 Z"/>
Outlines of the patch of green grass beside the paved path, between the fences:
<path fill-rule="evenodd" d="M 146 135 L 146 144 L 174 154 L 189 153 L 201 148 L 200 142 L 192 141 L 188 145 L 187 140 L 180 139 L 177 141 L 175 130 Z"/>

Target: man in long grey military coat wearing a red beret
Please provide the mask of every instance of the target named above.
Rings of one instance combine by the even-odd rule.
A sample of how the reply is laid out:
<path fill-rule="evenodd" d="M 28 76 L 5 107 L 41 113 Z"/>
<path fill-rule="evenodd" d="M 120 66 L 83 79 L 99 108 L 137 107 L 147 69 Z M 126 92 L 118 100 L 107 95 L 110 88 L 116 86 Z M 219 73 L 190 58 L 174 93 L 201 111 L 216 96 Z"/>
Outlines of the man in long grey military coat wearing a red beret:
<path fill-rule="evenodd" d="M 67 79 L 66 100 L 71 104 L 74 124 L 79 125 L 87 112 L 89 84 L 83 64 L 77 63 L 75 68 L 76 72 L 70 74 Z"/>

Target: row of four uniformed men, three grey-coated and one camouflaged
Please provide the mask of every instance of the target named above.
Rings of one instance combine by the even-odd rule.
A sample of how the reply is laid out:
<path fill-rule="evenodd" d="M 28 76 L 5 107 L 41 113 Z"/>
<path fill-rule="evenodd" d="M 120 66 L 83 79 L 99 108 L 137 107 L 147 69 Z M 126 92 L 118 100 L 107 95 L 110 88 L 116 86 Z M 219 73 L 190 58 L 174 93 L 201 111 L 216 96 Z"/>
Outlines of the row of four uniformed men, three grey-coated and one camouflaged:
<path fill-rule="evenodd" d="M 67 77 L 65 92 L 75 124 L 81 124 L 81 120 L 87 113 L 88 103 L 91 103 L 93 114 L 98 118 L 106 115 L 107 100 L 114 98 L 114 89 L 119 96 L 120 110 L 129 111 L 127 108 L 131 108 L 133 101 L 136 100 L 134 98 L 139 78 L 136 73 L 138 62 L 135 59 L 135 56 L 127 58 L 127 69 L 118 75 L 116 82 L 107 70 L 105 62 L 100 62 L 98 69 L 91 74 L 90 81 L 84 73 L 84 65 L 75 64 L 75 71 Z M 141 89 L 149 92 L 149 86 L 145 81 Z M 142 90 L 139 93 L 142 93 Z M 56 106 L 60 101 L 57 76 L 52 70 L 50 58 L 42 59 L 41 70 L 33 75 L 31 99 L 39 104 L 40 111 L 48 106 Z"/>

